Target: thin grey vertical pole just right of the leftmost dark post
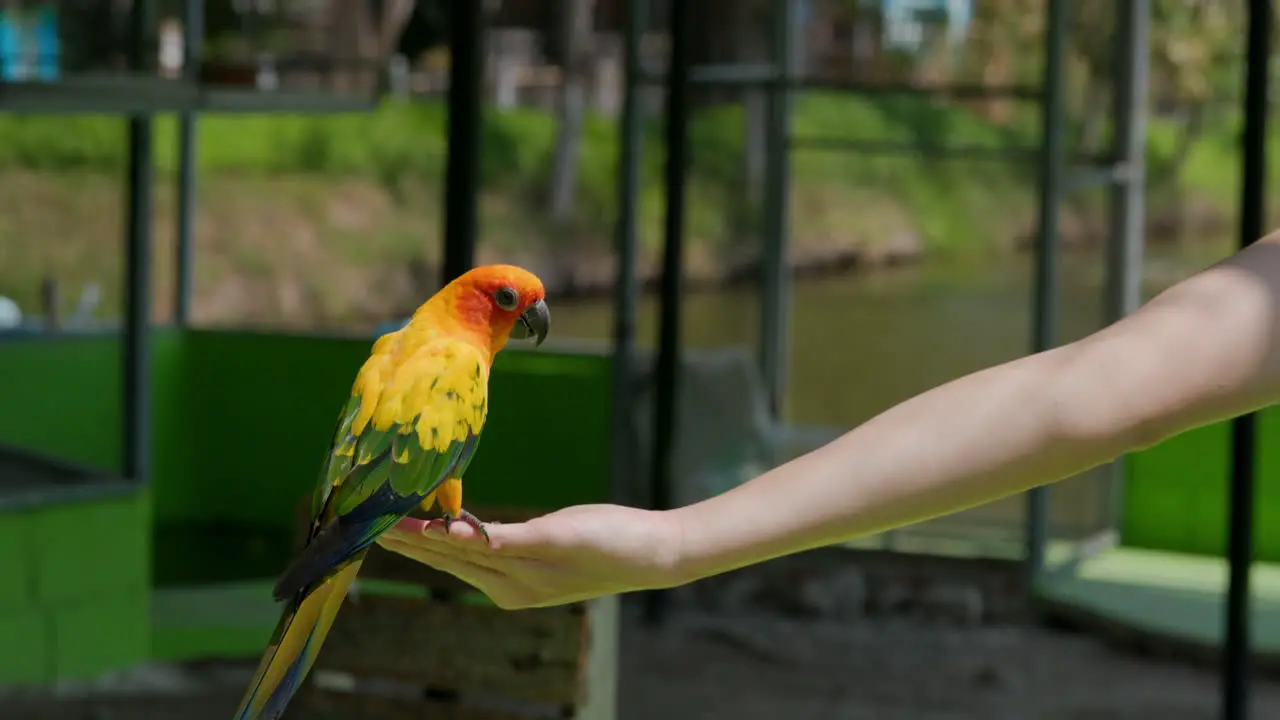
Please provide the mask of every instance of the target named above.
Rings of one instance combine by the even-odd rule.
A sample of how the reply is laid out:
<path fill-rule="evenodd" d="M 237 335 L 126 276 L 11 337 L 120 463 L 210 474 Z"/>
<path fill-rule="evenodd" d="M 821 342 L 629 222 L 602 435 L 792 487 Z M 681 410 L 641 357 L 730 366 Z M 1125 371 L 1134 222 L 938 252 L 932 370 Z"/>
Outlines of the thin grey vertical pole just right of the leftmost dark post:
<path fill-rule="evenodd" d="M 186 17 L 182 22 L 183 63 L 182 74 L 186 82 L 200 82 L 201 44 L 205 38 L 205 3 L 187 0 Z M 174 297 L 174 322 L 186 325 L 191 322 L 191 299 L 193 293 L 196 238 L 196 113 L 178 114 L 178 254 L 177 254 L 177 297 Z"/>

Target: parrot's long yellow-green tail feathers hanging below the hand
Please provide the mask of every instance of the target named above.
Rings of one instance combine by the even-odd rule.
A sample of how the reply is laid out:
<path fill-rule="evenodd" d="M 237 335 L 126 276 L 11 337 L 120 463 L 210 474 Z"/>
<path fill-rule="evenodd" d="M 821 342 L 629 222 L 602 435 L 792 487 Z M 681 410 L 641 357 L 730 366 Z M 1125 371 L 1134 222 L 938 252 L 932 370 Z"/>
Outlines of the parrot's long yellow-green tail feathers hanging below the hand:
<path fill-rule="evenodd" d="M 275 720 L 284 714 L 293 693 L 302 687 L 320 646 L 333 626 L 347 588 L 356 579 L 364 553 L 306 596 L 285 609 L 271 635 L 271 644 L 257 665 L 253 680 L 236 711 L 236 720 Z"/>

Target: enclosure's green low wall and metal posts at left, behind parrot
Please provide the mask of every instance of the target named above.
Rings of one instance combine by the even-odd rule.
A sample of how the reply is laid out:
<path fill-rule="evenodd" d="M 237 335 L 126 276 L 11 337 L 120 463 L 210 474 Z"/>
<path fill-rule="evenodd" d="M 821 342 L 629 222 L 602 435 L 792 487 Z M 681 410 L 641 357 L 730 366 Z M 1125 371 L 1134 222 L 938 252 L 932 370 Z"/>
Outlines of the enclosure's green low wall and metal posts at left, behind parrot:
<path fill-rule="evenodd" d="M 145 59 L 154 58 L 157 29 L 147 5 L 134 4 L 125 18 L 131 32 L 116 46 L 133 58 L 132 74 L 63 64 L 55 79 L 0 83 L 5 111 L 129 118 L 120 332 L 0 337 L 0 377 L 22 378 L 5 383 L 0 405 L 0 538 L 14 568 L 0 583 L 0 684 L 88 678 L 152 659 L 261 652 L 278 612 L 269 578 L 292 551 L 297 501 L 310 492 L 333 413 L 371 342 L 151 327 L 152 118 L 186 114 L 178 182 L 187 229 L 177 254 L 186 278 L 178 316 L 186 318 L 195 115 L 227 110 L 228 97 L 234 109 L 259 113 L 360 110 L 371 106 L 378 83 L 352 81 L 355 90 L 340 94 L 319 73 L 287 92 L 282 56 L 270 87 L 228 88 L 221 74 L 197 67 L 198 53 L 180 77 L 154 77 L 161 73 Z M 187 9 L 188 18 L 200 17 L 198 4 Z M 198 40 L 200 24 L 186 23 L 186 32 Z M 297 73 L 307 76 L 305 67 Z M 168 83 L 160 92 L 146 90 L 160 83 Z M 110 87 L 109 97 L 95 95 L 99 86 Z M 475 182 L 463 188 L 474 195 Z M 468 243 L 454 241 L 451 251 Z M 608 357 L 512 350 L 498 359 L 492 389 L 511 414 L 494 407 L 489 415 L 486 443 L 495 450 L 471 468 L 474 502 L 545 510 L 605 500 Z M 527 409 L 539 406 L 540 421 L 529 423 Z M 550 466 L 522 468 L 520 460 L 544 443 L 579 448 L 548 482 L 538 473 Z M 608 623 L 593 628 L 603 641 L 609 632 Z"/>

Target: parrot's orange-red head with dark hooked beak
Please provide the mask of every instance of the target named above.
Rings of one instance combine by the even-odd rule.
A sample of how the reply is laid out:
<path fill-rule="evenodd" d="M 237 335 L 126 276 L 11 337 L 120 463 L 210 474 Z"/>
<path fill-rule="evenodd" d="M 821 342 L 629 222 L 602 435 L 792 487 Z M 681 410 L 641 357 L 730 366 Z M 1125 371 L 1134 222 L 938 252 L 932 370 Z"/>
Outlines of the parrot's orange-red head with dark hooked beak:
<path fill-rule="evenodd" d="M 535 338 L 535 345 L 541 345 L 550 328 L 543 281 L 515 265 L 467 270 L 438 296 L 452 306 L 463 327 L 488 340 L 492 352 L 500 350 L 508 337 Z"/>

